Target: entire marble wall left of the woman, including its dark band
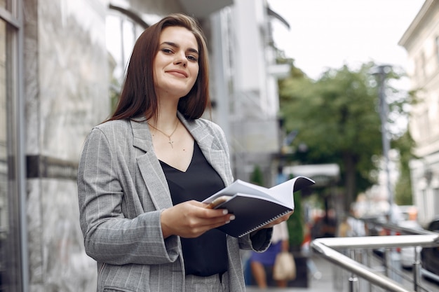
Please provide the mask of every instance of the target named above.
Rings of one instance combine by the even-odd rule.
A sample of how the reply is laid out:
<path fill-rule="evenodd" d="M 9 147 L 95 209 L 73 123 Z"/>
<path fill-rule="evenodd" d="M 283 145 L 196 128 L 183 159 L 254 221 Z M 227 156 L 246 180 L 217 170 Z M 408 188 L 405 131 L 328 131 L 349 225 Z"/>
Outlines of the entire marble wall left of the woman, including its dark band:
<path fill-rule="evenodd" d="M 95 291 L 79 228 L 76 168 L 109 115 L 107 1 L 25 1 L 25 121 L 30 291 Z"/>

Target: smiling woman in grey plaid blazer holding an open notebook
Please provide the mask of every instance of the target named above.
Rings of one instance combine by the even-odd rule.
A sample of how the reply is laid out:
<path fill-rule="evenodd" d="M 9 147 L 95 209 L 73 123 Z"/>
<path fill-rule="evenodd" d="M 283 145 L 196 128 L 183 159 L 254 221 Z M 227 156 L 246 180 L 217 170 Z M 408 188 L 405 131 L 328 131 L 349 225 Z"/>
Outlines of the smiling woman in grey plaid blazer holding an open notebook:
<path fill-rule="evenodd" d="M 86 139 L 78 171 L 84 244 L 97 291 L 245 291 L 239 249 L 264 251 L 272 226 L 240 239 L 201 201 L 232 182 L 208 106 L 208 55 L 196 21 L 169 15 L 133 48 L 119 104 Z"/>

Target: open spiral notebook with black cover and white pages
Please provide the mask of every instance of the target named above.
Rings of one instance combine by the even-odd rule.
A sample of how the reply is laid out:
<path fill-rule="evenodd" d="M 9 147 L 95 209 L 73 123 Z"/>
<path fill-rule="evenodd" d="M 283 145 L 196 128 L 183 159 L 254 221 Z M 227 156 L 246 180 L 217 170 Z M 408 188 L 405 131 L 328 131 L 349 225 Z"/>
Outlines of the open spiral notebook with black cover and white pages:
<path fill-rule="evenodd" d="M 314 183 L 305 176 L 297 176 L 272 188 L 264 188 L 238 179 L 203 202 L 212 203 L 219 197 L 229 196 L 215 209 L 229 210 L 235 220 L 217 229 L 233 237 L 243 237 L 294 210 L 293 193 Z"/>

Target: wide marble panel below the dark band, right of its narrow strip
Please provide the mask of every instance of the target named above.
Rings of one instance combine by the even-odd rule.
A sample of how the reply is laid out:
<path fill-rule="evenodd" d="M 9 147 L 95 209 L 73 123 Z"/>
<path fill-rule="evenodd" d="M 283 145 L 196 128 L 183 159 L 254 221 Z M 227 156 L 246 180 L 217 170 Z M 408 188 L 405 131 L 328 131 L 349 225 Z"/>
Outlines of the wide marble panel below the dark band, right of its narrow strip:
<path fill-rule="evenodd" d="M 46 291 L 95 291 L 96 263 L 83 247 L 75 181 L 41 181 L 41 255 Z"/>

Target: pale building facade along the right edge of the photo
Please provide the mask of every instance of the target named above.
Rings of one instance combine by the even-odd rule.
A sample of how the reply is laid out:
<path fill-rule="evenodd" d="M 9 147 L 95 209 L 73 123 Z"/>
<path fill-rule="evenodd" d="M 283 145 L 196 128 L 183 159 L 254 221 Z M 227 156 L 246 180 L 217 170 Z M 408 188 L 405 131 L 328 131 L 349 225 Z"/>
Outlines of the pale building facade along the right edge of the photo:
<path fill-rule="evenodd" d="M 412 106 L 409 128 L 416 143 L 410 162 L 412 194 L 423 225 L 439 215 L 439 2 L 426 0 L 399 41 L 407 50 Z"/>

